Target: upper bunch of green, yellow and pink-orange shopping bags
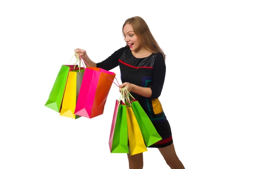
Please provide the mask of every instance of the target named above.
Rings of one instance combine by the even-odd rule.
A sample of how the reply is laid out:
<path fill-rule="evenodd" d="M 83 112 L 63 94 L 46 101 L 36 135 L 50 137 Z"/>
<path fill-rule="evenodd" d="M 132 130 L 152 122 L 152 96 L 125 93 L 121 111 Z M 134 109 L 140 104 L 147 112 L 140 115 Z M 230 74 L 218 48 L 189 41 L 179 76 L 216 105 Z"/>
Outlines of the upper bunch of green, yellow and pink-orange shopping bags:
<path fill-rule="evenodd" d="M 73 119 L 102 115 L 115 76 L 104 69 L 81 67 L 77 54 L 74 65 L 61 66 L 45 106 Z"/>

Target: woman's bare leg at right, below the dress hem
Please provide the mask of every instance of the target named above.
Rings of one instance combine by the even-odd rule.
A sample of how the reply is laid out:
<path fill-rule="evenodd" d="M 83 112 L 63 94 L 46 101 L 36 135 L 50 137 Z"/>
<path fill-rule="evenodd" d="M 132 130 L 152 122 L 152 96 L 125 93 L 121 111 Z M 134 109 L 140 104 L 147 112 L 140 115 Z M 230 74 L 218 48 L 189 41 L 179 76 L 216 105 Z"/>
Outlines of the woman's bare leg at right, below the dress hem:
<path fill-rule="evenodd" d="M 185 167 L 177 157 L 173 143 L 170 146 L 158 149 L 171 169 L 185 169 Z"/>

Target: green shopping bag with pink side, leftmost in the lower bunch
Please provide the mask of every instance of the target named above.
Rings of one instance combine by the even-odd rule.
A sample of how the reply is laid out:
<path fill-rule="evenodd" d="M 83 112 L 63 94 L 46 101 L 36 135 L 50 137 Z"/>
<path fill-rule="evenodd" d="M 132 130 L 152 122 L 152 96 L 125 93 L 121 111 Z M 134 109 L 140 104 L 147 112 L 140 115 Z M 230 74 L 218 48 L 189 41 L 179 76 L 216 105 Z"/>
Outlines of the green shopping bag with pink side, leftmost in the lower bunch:
<path fill-rule="evenodd" d="M 111 153 L 129 153 L 125 107 L 125 103 L 123 103 L 122 100 L 116 100 L 110 138 L 108 142 Z"/>

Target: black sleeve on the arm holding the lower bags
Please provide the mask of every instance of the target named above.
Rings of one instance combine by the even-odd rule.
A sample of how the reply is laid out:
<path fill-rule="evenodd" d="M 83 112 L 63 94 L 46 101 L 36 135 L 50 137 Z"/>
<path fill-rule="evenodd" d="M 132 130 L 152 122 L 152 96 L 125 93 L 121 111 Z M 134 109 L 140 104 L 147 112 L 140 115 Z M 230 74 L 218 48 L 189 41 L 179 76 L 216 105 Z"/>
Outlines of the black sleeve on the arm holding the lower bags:
<path fill-rule="evenodd" d="M 166 64 L 165 60 L 163 58 L 163 54 L 159 53 L 157 54 L 153 70 L 152 70 L 152 86 L 151 86 L 151 99 L 157 99 L 162 92 L 163 84 L 165 80 L 166 75 Z"/>

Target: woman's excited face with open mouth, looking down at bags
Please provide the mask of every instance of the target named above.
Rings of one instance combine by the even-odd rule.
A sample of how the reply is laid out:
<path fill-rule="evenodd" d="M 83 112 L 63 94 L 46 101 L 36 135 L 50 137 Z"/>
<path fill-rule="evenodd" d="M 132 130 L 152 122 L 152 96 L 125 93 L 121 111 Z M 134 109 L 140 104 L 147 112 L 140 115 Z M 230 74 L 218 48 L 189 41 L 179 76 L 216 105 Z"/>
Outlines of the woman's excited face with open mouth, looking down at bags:
<path fill-rule="evenodd" d="M 123 34 L 125 37 L 125 42 L 130 47 L 131 51 L 138 51 L 141 48 L 140 40 L 136 34 L 134 34 L 131 24 L 126 24 L 124 26 Z"/>

